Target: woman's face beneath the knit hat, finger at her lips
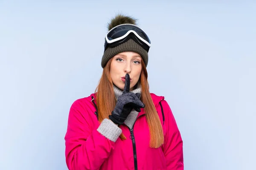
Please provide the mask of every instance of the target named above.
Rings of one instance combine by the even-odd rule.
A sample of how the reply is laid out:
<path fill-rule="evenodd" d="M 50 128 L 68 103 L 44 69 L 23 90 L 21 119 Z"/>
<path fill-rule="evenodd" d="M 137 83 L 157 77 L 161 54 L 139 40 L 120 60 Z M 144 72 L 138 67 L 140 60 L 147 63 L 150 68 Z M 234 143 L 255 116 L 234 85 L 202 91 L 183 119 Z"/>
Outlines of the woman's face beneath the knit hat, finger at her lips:
<path fill-rule="evenodd" d="M 142 71 L 142 58 L 140 54 L 134 52 L 122 52 L 113 57 L 110 66 L 111 79 L 114 85 L 120 89 L 125 87 L 125 74 L 130 75 L 130 90 L 134 89 L 134 86 L 140 79 L 140 73 Z"/>

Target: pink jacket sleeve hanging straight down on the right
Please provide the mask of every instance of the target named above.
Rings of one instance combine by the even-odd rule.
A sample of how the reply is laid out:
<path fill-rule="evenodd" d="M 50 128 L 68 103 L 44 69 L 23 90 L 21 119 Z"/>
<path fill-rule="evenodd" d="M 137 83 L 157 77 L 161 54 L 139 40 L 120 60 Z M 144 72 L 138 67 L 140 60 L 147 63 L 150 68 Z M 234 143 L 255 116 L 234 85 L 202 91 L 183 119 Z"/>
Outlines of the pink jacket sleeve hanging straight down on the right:
<path fill-rule="evenodd" d="M 183 170 L 183 141 L 180 131 L 168 103 L 165 100 L 161 103 L 166 118 L 163 152 L 166 157 L 167 170 Z"/>

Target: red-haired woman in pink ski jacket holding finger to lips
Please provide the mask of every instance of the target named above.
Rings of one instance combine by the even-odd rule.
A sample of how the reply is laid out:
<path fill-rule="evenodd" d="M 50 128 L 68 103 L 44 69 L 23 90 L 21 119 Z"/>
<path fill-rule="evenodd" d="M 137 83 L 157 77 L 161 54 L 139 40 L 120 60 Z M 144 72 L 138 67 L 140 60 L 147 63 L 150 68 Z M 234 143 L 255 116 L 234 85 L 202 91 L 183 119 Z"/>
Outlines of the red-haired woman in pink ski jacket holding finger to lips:
<path fill-rule="evenodd" d="M 96 93 L 70 108 L 69 170 L 183 170 L 183 142 L 163 96 L 149 93 L 151 41 L 133 18 L 109 24 Z"/>

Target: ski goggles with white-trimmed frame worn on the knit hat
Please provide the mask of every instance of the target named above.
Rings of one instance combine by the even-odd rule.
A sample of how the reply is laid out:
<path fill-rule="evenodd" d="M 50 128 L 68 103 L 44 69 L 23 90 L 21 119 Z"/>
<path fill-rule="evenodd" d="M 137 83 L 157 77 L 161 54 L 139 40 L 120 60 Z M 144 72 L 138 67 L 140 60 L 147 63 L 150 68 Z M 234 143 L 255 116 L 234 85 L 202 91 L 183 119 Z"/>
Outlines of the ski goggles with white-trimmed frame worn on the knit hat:
<path fill-rule="evenodd" d="M 151 40 L 140 27 L 133 24 L 121 24 L 112 28 L 106 34 L 104 51 L 106 51 L 108 47 L 116 47 L 129 39 L 133 39 L 146 51 L 148 51 L 151 46 Z"/>

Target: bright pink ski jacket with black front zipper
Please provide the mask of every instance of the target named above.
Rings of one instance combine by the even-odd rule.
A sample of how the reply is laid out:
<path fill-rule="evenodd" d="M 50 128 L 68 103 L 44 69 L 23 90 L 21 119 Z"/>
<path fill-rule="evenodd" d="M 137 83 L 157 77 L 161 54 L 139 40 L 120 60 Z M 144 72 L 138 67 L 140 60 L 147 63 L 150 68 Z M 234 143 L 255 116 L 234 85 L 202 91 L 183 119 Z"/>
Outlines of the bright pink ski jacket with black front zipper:
<path fill-rule="evenodd" d="M 70 108 L 65 135 L 69 170 L 183 170 L 183 141 L 163 96 L 151 94 L 164 133 L 164 144 L 159 148 L 149 147 L 144 109 L 132 129 L 119 126 L 126 140 L 118 138 L 113 142 L 99 133 L 95 98 L 91 94 L 78 99 Z"/>

